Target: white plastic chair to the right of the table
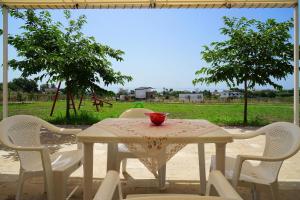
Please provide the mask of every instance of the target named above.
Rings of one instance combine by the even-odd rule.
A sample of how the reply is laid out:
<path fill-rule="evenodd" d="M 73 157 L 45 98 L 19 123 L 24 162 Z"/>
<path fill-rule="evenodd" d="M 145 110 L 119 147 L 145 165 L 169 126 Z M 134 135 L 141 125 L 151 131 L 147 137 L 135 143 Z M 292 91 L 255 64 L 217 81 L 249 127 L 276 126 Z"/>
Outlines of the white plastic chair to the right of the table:
<path fill-rule="evenodd" d="M 300 128 L 288 122 L 276 122 L 248 134 L 234 135 L 234 139 L 249 139 L 265 135 L 265 149 L 262 156 L 238 155 L 226 157 L 225 175 L 236 187 L 239 181 L 252 183 L 252 198 L 256 199 L 255 184 L 268 185 L 272 198 L 278 199 L 278 174 L 285 159 L 295 155 L 300 148 Z M 249 162 L 260 161 L 258 165 Z M 215 169 L 215 156 L 211 169 Z M 291 169 L 292 170 L 292 169 Z"/>

